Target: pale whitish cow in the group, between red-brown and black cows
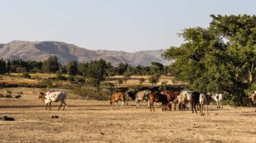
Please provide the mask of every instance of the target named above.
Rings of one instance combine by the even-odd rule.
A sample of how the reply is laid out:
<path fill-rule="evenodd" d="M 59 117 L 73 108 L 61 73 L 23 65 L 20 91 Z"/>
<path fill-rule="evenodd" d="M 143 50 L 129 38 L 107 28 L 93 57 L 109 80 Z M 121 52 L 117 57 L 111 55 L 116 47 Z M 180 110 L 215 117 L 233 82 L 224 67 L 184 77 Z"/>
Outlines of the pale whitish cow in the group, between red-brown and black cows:
<path fill-rule="evenodd" d="M 191 105 L 192 104 L 192 92 L 193 91 L 189 91 L 189 90 L 183 90 L 180 94 L 180 98 L 181 98 L 181 102 L 180 102 L 180 106 L 182 110 L 185 110 L 187 108 L 188 110 L 188 104 Z"/>

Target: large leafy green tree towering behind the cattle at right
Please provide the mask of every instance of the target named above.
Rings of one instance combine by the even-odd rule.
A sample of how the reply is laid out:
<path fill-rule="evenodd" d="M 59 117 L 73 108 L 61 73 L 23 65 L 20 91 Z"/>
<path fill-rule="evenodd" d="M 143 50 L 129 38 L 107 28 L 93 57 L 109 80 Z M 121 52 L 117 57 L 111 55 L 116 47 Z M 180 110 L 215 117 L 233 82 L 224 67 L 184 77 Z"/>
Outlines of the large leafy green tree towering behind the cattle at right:
<path fill-rule="evenodd" d="M 208 28 L 189 28 L 180 34 L 185 43 L 163 57 L 175 60 L 171 71 L 191 90 L 232 95 L 243 104 L 256 69 L 256 16 L 214 16 Z"/>

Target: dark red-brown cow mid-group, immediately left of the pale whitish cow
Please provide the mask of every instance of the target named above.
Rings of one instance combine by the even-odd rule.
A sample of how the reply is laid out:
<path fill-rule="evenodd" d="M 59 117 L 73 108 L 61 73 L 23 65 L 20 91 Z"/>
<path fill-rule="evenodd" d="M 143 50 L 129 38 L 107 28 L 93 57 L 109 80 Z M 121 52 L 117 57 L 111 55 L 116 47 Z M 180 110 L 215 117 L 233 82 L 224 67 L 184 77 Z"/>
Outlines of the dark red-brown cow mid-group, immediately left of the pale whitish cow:
<path fill-rule="evenodd" d="M 180 95 L 180 92 L 173 90 L 164 90 L 161 94 L 166 95 L 168 99 L 169 109 L 172 111 L 172 105 L 174 104 L 174 110 L 176 110 L 177 105 L 177 96 Z"/>

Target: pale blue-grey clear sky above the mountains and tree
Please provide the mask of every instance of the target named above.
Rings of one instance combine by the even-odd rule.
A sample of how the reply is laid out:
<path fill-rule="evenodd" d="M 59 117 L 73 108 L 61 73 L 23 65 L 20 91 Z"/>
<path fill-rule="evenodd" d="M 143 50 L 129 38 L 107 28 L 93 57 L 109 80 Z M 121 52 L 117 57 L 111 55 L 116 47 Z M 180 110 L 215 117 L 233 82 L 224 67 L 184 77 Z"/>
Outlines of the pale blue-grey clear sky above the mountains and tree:
<path fill-rule="evenodd" d="M 88 49 L 179 46 L 186 28 L 207 27 L 211 14 L 256 13 L 255 0 L 0 0 L 0 44 L 61 41 Z"/>

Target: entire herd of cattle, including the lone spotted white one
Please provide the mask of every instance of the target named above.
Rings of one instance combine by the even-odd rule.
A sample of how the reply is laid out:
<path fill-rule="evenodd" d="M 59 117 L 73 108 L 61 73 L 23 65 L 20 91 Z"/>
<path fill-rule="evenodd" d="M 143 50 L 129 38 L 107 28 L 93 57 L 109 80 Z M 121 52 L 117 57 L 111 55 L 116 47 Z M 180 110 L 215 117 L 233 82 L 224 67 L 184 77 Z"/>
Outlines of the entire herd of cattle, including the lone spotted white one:
<path fill-rule="evenodd" d="M 67 106 L 65 103 L 67 94 L 65 92 L 40 92 L 39 99 L 42 99 L 46 108 L 48 104 L 51 109 L 51 102 L 60 101 L 59 108 L 64 104 L 64 108 Z M 140 102 L 146 101 L 148 102 L 150 111 L 154 111 L 154 105 L 157 103 L 161 103 L 162 111 L 172 110 L 188 110 L 189 107 L 192 109 L 192 113 L 194 111 L 197 113 L 197 106 L 200 108 L 200 113 L 204 113 L 204 105 L 207 105 L 207 113 L 208 113 L 208 104 L 211 101 L 216 101 L 217 108 L 223 108 L 223 95 L 222 94 L 211 94 L 211 93 L 199 93 L 197 91 L 183 90 L 183 91 L 175 91 L 175 90 L 164 90 L 162 92 L 153 91 L 153 90 L 128 90 L 128 91 L 120 91 L 111 95 L 110 105 L 112 106 L 116 103 L 116 108 L 118 108 L 118 101 L 121 101 L 121 107 L 125 107 L 125 104 L 128 105 L 128 97 L 131 100 L 135 101 L 136 108 L 140 108 Z M 256 91 L 249 97 L 252 99 L 254 104 L 256 104 Z M 63 108 L 63 110 L 64 110 Z"/>

